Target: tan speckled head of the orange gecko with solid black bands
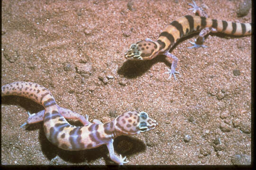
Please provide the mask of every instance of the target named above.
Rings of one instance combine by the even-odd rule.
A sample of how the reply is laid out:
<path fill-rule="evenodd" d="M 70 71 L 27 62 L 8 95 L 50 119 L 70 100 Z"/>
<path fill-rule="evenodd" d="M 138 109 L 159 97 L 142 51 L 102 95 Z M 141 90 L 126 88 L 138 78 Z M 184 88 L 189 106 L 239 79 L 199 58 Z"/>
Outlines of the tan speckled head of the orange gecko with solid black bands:
<path fill-rule="evenodd" d="M 131 44 L 125 53 L 125 58 L 130 60 L 153 59 L 159 51 L 159 43 L 154 41 L 139 41 Z"/>

